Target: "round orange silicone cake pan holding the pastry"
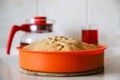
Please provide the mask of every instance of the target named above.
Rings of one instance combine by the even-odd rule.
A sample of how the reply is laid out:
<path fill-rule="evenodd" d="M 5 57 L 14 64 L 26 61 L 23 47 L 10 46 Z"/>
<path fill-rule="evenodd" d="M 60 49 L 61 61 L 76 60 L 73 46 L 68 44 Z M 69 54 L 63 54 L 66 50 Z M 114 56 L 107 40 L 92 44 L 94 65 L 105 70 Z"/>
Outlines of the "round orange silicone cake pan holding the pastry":
<path fill-rule="evenodd" d="M 19 51 L 20 67 L 39 72 L 83 72 L 104 67 L 105 46 L 72 52 Z"/>

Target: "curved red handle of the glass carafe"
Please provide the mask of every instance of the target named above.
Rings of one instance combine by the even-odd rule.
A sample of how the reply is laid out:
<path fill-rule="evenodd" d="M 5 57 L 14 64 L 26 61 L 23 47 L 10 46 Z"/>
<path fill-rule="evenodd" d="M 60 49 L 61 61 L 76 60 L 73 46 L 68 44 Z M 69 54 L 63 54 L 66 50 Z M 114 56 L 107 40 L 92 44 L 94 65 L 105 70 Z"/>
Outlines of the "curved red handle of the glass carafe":
<path fill-rule="evenodd" d="M 29 24 L 23 24 L 21 26 L 18 25 L 13 25 L 12 29 L 10 31 L 9 37 L 8 37 L 8 41 L 7 41 L 7 48 L 6 48 L 6 53 L 9 55 L 10 54 L 10 48 L 11 48 L 11 44 L 12 44 L 12 40 L 14 38 L 14 35 L 17 31 L 25 31 L 25 32 L 30 32 L 30 25 Z"/>

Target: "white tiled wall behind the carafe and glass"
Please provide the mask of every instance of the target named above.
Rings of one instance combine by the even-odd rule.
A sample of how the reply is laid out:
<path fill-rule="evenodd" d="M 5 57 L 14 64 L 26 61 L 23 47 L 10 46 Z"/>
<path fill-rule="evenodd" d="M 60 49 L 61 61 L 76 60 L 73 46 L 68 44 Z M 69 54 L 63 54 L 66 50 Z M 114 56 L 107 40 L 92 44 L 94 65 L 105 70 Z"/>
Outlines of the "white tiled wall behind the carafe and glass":
<path fill-rule="evenodd" d="M 23 24 L 36 15 L 36 0 L 0 0 L 0 47 L 6 47 L 13 24 Z M 81 38 L 81 25 L 86 24 L 87 0 L 39 0 L 39 15 L 55 19 L 54 30 L 65 36 Z M 120 46 L 120 0 L 89 0 L 89 24 L 99 26 L 99 42 Z M 15 35 L 13 47 L 23 32 Z"/>

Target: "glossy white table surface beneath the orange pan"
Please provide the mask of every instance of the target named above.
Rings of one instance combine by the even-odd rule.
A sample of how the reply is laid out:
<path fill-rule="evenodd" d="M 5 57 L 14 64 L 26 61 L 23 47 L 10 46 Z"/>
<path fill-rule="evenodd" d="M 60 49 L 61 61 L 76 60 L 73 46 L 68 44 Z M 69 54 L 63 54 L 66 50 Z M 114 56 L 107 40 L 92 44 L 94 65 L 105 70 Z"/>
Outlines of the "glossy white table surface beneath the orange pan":
<path fill-rule="evenodd" d="M 13 48 L 8 56 L 5 48 L 0 48 L 0 80 L 120 80 L 120 50 L 111 48 L 105 51 L 104 73 L 79 77 L 44 77 L 20 73 L 17 50 Z"/>

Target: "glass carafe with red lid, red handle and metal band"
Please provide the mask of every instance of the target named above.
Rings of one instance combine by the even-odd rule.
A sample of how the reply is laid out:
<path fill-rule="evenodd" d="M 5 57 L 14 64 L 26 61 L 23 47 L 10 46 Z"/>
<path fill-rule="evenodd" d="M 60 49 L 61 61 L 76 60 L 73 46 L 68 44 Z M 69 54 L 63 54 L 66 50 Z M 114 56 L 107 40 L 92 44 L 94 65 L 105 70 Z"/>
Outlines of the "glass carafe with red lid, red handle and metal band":
<path fill-rule="evenodd" d="M 56 33 L 53 31 L 54 22 L 54 20 L 47 19 L 45 16 L 36 16 L 33 19 L 28 19 L 27 23 L 21 26 L 13 25 L 7 42 L 7 54 L 10 53 L 12 40 L 17 31 L 25 32 L 20 40 L 20 46 L 24 46 L 47 37 L 55 36 Z"/>

